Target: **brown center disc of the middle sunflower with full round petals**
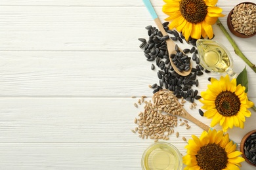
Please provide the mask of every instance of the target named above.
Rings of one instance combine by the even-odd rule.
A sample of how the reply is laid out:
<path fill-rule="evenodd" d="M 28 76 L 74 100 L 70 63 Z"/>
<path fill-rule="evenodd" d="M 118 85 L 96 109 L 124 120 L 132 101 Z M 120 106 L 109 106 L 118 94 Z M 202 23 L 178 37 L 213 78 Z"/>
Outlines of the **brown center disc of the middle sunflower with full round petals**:
<path fill-rule="evenodd" d="M 238 96 L 229 91 L 219 93 L 215 99 L 216 109 L 223 116 L 234 116 L 238 114 L 240 105 Z"/>

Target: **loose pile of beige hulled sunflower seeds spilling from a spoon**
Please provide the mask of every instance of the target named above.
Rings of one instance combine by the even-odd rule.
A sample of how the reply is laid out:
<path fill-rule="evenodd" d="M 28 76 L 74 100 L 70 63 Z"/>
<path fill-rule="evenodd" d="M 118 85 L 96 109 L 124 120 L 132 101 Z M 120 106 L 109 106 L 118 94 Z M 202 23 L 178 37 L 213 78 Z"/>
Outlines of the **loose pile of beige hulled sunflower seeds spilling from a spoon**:
<path fill-rule="evenodd" d="M 159 139 L 169 140 L 169 136 L 175 133 L 174 128 L 178 126 L 186 126 L 189 129 L 188 121 L 178 120 L 177 115 L 182 114 L 182 104 L 175 100 L 175 95 L 171 92 L 160 92 L 154 95 L 153 101 L 144 100 L 145 97 L 141 97 L 138 104 L 144 103 L 144 112 L 138 114 L 139 118 L 135 118 L 134 123 L 137 124 L 135 129 L 131 129 L 133 133 L 139 133 L 139 137 L 142 139 L 154 139 L 157 142 Z M 167 97 L 168 96 L 168 97 Z M 143 102 L 141 99 L 143 98 Z M 168 99 L 167 99 L 168 98 Z M 167 103 L 165 103 L 167 101 Z M 155 105 L 156 104 L 156 105 Z M 173 110 L 169 112 L 172 114 L 163 114 L 163 110 L 169 108 L 168 105 L 173 106 Z M 136 107 L 136 106 L 135 106 Z M 137 105 L 138 107 L 138 105 Z M 179 132 L 176 132 L 176 137 L 179 137 Z M 184 140 L 184 139 L 183 139 Z"/>

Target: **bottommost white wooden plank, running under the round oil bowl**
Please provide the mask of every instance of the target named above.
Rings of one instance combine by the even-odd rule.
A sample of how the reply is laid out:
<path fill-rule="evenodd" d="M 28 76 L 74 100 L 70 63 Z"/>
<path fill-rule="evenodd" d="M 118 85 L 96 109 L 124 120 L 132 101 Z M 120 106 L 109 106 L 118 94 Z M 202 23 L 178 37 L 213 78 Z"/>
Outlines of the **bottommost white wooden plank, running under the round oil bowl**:
<path fill-rule="evenodd" d="M 12 169 L 141 169 L 140 160 L 149 143 L 51 143 L 0 144 L 0 167 Z M 185 155 L 184 144 L 174 144 Z M 242 163 L 242 170 L 253 166 Z"/>

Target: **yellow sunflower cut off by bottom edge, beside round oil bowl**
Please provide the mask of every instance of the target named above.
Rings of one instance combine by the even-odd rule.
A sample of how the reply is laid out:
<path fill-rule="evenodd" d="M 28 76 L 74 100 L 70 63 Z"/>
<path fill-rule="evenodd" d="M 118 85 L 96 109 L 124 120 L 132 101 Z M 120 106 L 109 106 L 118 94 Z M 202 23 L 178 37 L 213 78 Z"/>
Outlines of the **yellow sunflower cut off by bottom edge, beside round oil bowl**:
<path fill-rule="evenodd" d="M 244 161 L 240 157 L 242 152 L 236 151 L 236 144 L 230 141 L 228 133 L 215 129 L 203 131 L 200 138 L 192 135 L 185 148 L 184 170 L 237 170 Z"/>

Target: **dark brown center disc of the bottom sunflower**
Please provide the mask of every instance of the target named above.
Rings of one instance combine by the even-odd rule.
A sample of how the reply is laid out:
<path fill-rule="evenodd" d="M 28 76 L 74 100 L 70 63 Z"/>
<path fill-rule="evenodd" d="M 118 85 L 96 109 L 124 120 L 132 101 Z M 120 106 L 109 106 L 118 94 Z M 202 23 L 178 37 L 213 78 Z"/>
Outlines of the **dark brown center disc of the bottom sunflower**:
<path fill-rule="evenodd" d="M 196 161 L 203 170 L 221 170 L 226 167 L 228 157 L 224 148 L 219 144 L 211 143 L 200 148 Z"/>

